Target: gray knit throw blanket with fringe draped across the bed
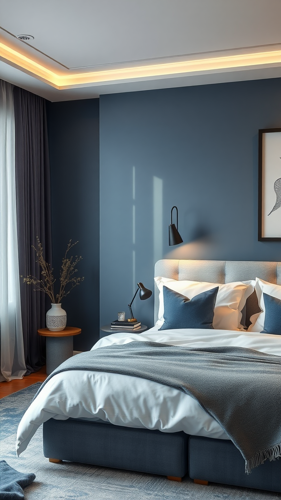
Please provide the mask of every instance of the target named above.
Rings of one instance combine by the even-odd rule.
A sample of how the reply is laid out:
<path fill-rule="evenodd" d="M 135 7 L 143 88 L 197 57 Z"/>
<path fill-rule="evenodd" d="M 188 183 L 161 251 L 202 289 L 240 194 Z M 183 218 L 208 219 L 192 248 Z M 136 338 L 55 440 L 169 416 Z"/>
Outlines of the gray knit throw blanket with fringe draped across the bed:
<path fill-rule="evenodd" d="M 182 390 L 225 430 L 245 459 L 247 473 L 266 458 L 281 456 L 281 356 L 243 347 L 133 341 L 67 359 L 38 392 L 65 370 L 123 373 Z"/>

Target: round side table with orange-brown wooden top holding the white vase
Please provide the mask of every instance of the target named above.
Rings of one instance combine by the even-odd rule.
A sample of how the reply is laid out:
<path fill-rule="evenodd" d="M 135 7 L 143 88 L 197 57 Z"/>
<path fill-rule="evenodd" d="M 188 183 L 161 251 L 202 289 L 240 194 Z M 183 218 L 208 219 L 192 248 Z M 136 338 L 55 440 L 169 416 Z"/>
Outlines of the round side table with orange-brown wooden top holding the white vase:
<path fill-rule="evenodd" d="M 46 337 L 46 373 L 49 375 L 59 364 L 73 356 L 73 335 L 79 335 L 81 328 L 65 326 L 62 331 L 51 331 L 48 328 L 37 330 Z"/>

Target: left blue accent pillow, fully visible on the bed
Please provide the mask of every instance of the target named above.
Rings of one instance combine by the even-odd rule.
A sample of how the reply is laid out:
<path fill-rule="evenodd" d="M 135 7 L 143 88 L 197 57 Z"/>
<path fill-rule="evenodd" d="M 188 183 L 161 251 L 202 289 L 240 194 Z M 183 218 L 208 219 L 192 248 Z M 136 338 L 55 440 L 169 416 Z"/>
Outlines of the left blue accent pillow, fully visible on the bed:
<path fill-rule="evenodd" d="M 191 300 L 163 286 L 164 322 L 159 330 L 169 328 L 213 328 L 213 310 L 218 286 L 198 293 Z"/>

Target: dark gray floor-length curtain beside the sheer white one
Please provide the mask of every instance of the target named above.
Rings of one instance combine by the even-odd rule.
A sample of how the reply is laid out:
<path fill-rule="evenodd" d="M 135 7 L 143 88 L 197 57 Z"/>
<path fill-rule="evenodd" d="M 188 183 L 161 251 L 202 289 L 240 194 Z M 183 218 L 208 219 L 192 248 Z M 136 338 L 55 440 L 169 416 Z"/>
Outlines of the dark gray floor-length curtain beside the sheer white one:
<path fill-rule="evenodd" d="M 40 276 L 31 245 L 36 236 L 51 263 L 50 174 L 45 100 L 14 87 L 15 185 L 19 273 Z M 20 283 L 21 316 L 27 372 L 45 364 L 44 337 L 37 334 L 45 326 L 45 294 L 32 285 Z"/>

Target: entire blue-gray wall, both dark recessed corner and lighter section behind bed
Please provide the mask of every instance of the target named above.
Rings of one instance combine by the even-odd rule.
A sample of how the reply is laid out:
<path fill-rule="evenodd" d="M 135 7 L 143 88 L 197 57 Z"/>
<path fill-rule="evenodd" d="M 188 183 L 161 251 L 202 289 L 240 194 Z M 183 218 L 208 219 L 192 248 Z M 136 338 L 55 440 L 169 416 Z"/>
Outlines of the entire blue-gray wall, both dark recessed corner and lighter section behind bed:
<path fill-rule="evenodd" d="M 99 298 L 105 324 L 138 281 L 153 288 L 158 258 L 280 260 L 257 241 L 257 132 L 281 126 L 281 79 L 102 95 L 99 118 L 98 99 L 48 103 L 48 125 L 54 266 L 70 237 L 83 256 L 63 302 L 75 348 L 98 338 Z M 169 247 L 174 204 L 184 243 Z M 151 326 L 153 298 L 133 312 Z"/>

